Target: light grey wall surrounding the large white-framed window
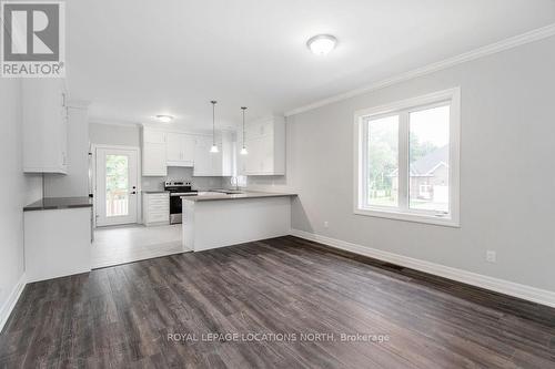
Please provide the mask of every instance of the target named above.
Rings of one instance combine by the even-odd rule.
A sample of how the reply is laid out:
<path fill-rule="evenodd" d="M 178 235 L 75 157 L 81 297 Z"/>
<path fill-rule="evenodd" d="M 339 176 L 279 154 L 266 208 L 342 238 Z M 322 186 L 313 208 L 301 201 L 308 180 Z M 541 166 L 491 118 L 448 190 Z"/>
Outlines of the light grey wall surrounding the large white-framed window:
<path fill-rule="evenodd" d="M 293 228 L 555 291 L 554 65 L 549 38 L 290 116 L 287 176 L 250 183 L 299 193 Z M 353 113 L 453 86 L 461 227 L 354 215 Z"/>

